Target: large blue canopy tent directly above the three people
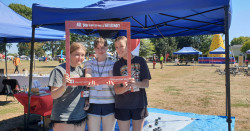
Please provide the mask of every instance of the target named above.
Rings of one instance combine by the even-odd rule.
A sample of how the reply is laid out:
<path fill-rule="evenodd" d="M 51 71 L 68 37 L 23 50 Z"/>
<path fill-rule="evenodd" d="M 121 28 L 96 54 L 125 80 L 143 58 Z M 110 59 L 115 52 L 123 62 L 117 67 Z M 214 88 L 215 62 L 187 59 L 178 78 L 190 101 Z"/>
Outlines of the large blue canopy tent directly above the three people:
<path fill-rule="evenodd" d="M 230 0 L 102 0 L 96 4 L 75 9 L 33 4 L 32 13 L 33 30 L 38 26 L 65 30 L 66 20 L 81 20 L 130 22 L 132 39 L 224 33 L 226 44 L 226 116 L 228 116 L 228 130 L 231 130 Z M 72 32 L 102 35 L 97 30 L 72 30 Z M 113 34 L 112 37 L 123 35 L 122 32 L 110 34 Z"/>

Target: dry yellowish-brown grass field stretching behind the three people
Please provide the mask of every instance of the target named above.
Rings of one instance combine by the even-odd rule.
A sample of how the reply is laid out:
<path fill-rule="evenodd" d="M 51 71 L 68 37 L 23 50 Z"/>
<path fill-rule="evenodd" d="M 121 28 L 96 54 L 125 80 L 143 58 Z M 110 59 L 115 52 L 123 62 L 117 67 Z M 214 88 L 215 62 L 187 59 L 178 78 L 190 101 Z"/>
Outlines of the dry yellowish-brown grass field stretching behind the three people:
<path fill-rule="evenodd" d="M 35 62 L 35 74 L 49 74 L 59 65 L 58 61 Z M 219 75 L 216 69 L 224 69 L 224 65 L 191 64 L 175 66 L 173 63 L 148 63 L 151 77 L 147 89 L 149 107 L 178 112 L 191 112 L 206 115 L 226 115 L 225 75 Z M 0 61 L 0 69 L 5 67 Z M 8 62 L 8 74 L 13 74 L 14 65 Z M 29 70 L 29 61 L 22 61 L 19 70 Z M 22 73 L 22 71 L 20 72 Z M 250 130 L 250 77 L 243 74 L 231 79 L 231 110 L 235 116 L 235 130 Z M 13 98 L 9 97 L 9 100 Z M 23 124 L 23 106 L 17 102 L 5 102 L 5 96 L 0 95 L 0 127 L 9 129 Z"/>

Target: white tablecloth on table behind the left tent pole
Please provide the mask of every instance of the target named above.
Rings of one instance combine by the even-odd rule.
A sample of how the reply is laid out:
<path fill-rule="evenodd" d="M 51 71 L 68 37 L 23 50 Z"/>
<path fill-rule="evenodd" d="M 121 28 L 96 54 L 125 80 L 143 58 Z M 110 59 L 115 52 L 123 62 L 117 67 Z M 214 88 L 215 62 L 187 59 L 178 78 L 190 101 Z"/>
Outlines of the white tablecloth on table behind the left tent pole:
<path fill-rule="evenodd" d="M 21 88 L 28 88 L 29 86 L 29 76 L 24 76 L 22 74 L 10 74 L 8 75 L 10 79 L 16 79 Z M 41 84 L 41 87 L 47 87 L 49 83 L 49 75 L 33 75 L 32 80 L 38 80 Z M 34 83 L 32 82 L 32 87 L 34 87 Z"/>

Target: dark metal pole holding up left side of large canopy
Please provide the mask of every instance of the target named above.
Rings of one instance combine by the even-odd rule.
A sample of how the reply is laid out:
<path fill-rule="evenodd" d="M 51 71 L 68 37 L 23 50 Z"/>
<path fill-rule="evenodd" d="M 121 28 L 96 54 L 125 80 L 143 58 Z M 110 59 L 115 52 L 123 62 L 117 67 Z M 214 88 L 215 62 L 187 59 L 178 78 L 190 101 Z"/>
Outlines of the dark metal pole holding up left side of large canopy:
<path fill-rule="evenodd" d="M 33 76 L 33 59 L 34 59 L 34 43 L 35 43 L 35 26 L 32 26 L 32 39 L 31 39 L 31 56 L 30 56 L 30 75 L 29 75 L 29 92 L 28 92 L 28 119 L 26 122 L 25 127 L 29 128 L 29 119 L 30 119 L 30 100 L 31 100 L 31 96 L 30 96 L 30 91 L 31 91 L 31 87 L 32 87 L 32 76 Z"/>

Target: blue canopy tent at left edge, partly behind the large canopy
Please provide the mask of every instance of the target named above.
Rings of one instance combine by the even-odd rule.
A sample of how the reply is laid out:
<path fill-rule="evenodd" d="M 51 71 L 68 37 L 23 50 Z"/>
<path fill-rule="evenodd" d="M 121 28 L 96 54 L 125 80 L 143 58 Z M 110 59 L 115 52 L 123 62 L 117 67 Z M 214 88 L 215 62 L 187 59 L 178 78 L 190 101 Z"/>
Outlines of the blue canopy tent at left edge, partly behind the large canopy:
<path fill-rule="evenodd" d="M 31 42 L 31 21 L 17 14 L 8 6 L 0 2 L 0 43 Z M 64 32 L 53 29 L 39 28 L 35 41 L 63 40 Z M 7 60 L 5 57 L 5 69 L 7 73 Z"/>

